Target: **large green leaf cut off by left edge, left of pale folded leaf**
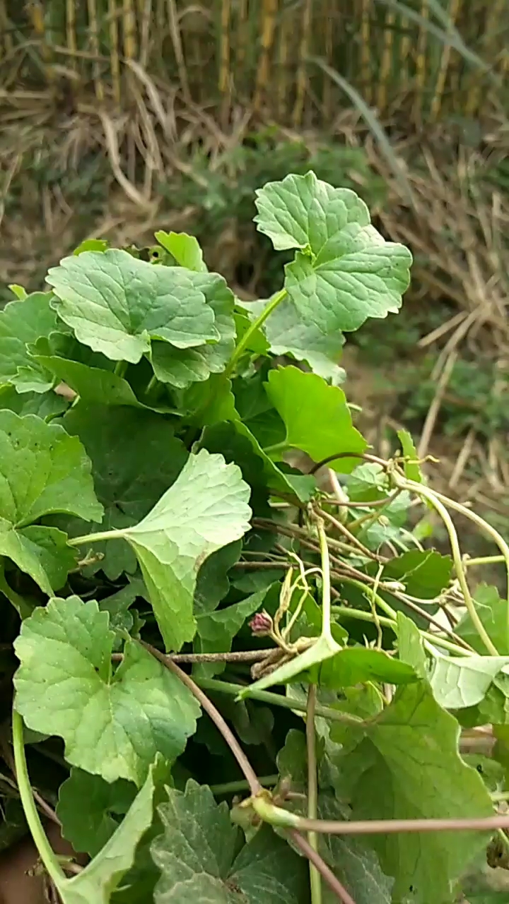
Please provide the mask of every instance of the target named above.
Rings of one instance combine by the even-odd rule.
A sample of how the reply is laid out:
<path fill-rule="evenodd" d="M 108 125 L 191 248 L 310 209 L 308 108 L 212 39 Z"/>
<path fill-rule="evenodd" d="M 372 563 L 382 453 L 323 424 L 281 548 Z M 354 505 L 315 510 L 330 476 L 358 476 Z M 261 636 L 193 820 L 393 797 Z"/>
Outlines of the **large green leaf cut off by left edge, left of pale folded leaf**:
<path fill-rule="evenodd" d="M 0 555 L 49 595 L 62 587 L 74 559 L 61 532 L 29 525 L 57 512 L 101 521 L 80 440 L 35 415 L 0 410 Z"/>

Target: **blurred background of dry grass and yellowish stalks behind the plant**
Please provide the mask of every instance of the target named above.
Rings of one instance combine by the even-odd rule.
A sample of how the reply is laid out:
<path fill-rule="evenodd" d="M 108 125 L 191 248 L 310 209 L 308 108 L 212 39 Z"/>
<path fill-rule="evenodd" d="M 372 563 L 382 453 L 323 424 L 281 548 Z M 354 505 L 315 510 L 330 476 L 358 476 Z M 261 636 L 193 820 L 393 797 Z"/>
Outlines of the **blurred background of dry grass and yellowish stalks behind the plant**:
<path fill-rule="evenodd" d="M 403 314 L 346 346 L 362 427 L 383 452 L 406 422 L 507 525 L 508 99 L 509 0 L 0 0 L 0 301 L 160 228 L 266 297 L 255 189 L 312 168 L 415 256 Z"/>

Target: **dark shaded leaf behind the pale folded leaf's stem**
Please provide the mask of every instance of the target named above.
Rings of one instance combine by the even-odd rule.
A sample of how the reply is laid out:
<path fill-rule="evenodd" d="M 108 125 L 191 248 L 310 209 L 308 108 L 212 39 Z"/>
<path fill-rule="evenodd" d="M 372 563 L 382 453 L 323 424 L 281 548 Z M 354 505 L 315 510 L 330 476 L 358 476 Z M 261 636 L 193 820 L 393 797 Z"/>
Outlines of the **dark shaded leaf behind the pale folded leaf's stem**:
<path fill-rule="evenodd" d="M 91 457 L 96 492 L 104 506 L 101 531 L 138 523 L 175 482 L 187 460 L 172 425 L 155 412 L 80 402 L 67 412 L 63 424 L 81 439 Z M 81 523 L 72 526 L 73 535 L 82 533 Z M 123 570 L 136 569 L 135 556 L 121 540 L 94 544 L 94 551 L 104 553 L 101 568 L 111 580 Z"/>

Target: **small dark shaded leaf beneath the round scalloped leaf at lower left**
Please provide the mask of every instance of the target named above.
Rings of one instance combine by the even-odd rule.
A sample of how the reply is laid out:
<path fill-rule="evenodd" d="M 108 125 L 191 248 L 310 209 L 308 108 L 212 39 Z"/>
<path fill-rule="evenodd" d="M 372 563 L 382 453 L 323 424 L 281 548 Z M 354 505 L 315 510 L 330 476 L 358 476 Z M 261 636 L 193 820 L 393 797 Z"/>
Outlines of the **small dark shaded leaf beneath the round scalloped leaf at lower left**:
<path fill-rule="evenodd" d="M 95 857 L 118 828 L 135 796 L 136 787 L 125 779 L 111 784 L 101 776 L 72 768 L 58 793 L 56 815 L 62 823 L 62 837 L 74 851 Z"/>

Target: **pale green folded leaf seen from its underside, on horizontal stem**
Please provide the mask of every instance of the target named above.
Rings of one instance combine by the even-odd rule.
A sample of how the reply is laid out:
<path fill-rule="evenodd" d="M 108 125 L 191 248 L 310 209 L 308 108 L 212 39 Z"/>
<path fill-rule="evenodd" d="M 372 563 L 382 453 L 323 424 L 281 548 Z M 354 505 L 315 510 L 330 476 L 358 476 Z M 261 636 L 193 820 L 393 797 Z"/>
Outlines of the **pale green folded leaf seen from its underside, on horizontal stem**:
<path fill-rule="evenodd" d="M 143 521 L 122 531 L 136 552 L 168 650 L 195 636 L 197 569 L 248 530 L 249 494 L 237 466 L 201 449 Z"/>

